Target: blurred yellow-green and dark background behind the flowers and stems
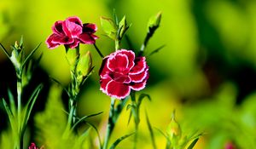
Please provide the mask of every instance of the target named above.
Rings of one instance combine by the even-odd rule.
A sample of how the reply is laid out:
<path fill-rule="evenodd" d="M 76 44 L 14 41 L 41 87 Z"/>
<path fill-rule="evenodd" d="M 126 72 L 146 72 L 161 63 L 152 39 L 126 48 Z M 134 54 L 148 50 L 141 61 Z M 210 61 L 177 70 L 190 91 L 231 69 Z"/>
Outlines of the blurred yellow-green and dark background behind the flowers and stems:
<path fill-rule="evenodd" d="M 146 50 L 150 53 L 161 45 L 166 47 L 147 58 L 150 78 L 147 89 L 140 93 L 149 94 L 152 101 L 143 102 L 139 135 L 142 141 L 138 148 L 152 147 L 145 111 L 154 128 L 166 131 L 174 109 L 184 134 L 195 130 L 204 133 L 195 148 L 224 148 L 227 143 L 237 148 L 256 146 L 256 1 L 1 0 L 0 42 L 9 48 L 23 35 L 26 50 L 42 43 L 35 54 L 37 57 L 43 53 L 42 74 L 38 73 L 38 77 L 49 75 L 67 85 L 70 76 L 64 47 L 47 49 L 44 43 L 51 34 L 51 26 L 56 20 L 74 15 L 84 23 L 96 23 L 96 35 L 100 37 L 96 44 L 107 55 L 113 52 L 114 43 L 103 36 L 100 17 L 111 18 L 113 9 L 119 18 L 126 15 L 132 24 L 127 35 L 134 49 L 143 43 L 148 18 L 162 12 L 160 28 Z M 121 47 L 128 47 L 125 39 Z M 93 118 L 97 127 L 103 129 L 110 100 L 99 90 L 97 71 L 102 60 L 92 45 L 80 45 L 80 49 L 90 50 L 96 67 L 80 95 L 79 115 L 103 112 Z M 7 67 L 10 65 L 3 52 L 0 64 L 0 94 L 4 96 L 5 87 L 12 83 L 9 74 L 15 74 Z M 38 104 L 38 109 L 43 111 L 44 106 L 40 108 Z M 3 109 L 1 113 L 6 118 Z M 127 127 L 128 116 L 129 112 L 124 110 L 113 140 L 133 131 L 132 124 Z M 0 124 L 3 132 L 8 120 L 2 122 L 5 123 Z M 158 131 L 155 137 L 157 146 L 164 148 L 165 138 Z M 128 139 L 119 147 L 132 148 L 131 143 L 132 139 Z"/>

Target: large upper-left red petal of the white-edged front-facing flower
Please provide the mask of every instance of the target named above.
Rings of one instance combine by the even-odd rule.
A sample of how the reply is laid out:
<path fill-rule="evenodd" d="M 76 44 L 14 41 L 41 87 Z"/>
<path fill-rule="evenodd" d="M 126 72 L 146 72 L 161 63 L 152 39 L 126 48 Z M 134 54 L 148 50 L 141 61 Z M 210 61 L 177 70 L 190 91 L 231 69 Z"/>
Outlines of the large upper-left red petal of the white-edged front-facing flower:
<path fill-rule="evenodd" d="M 116 54 L 108 58 L 107 66 L 112 72 L 125 72 L 129 64 L 128 57 L 125 54 Z"/>

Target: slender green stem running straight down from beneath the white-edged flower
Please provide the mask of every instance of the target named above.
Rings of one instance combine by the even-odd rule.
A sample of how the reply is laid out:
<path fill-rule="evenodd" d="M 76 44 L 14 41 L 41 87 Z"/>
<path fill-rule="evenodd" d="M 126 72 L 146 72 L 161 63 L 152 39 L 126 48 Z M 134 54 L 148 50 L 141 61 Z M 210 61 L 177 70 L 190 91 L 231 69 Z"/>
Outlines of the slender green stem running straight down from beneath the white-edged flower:
<path fill-rule="evenodd" d="M 108 148 L 108 141 L 109 141 L 110 135 L 112 134 L 113 127 L 114 127 L 114 119 L 113 119 L 114 118 L 114 103 L 115 103 L 115 99 L 112 98 L 111 106 L 110 106 L 110 110 L 109 110 L 107 133 L 105 136 L 103 149 Z"/>

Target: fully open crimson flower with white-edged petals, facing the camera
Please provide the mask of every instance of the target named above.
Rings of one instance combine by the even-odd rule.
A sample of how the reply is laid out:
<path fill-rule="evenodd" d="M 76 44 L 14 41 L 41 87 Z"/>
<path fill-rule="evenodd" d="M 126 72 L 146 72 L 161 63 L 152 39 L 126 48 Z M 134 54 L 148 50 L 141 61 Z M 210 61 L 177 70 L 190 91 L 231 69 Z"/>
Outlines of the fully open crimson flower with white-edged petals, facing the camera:
<path fill-rule="evenodd" d="M 106 56 L 99 73 L 102 92 L 117 99 L 130 95 L 131 89 L 144 89 L 149 77 L 146 58 L 126 49 Z"/>

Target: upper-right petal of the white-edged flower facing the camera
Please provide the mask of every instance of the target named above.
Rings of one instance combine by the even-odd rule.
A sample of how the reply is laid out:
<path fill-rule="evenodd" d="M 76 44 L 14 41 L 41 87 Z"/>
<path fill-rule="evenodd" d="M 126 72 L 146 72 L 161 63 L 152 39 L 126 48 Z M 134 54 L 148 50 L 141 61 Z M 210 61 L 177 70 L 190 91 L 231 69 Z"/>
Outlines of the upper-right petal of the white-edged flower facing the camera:
<path fill-rule="evenodd" d="M 135 61 L 135 65 L 131 68 L 130 74 L 138 74 L 145 70 L 147 67 L 146 64 L 146 58 L 145 57 L 137 57 Z"/>

